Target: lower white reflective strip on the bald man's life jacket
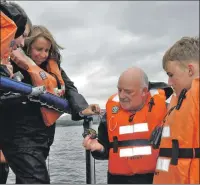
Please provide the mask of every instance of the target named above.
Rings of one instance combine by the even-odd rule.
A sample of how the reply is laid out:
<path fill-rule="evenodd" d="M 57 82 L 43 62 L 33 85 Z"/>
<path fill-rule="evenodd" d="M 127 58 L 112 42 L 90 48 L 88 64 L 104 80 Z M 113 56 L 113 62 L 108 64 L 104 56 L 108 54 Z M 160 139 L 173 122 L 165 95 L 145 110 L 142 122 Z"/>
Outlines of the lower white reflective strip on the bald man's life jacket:
<path fill-rule="evenodd" d="M 132 157 L 137 155 L 151 155 L 150 146 L 132 147 L 119 150 L 120 157 Z"/>

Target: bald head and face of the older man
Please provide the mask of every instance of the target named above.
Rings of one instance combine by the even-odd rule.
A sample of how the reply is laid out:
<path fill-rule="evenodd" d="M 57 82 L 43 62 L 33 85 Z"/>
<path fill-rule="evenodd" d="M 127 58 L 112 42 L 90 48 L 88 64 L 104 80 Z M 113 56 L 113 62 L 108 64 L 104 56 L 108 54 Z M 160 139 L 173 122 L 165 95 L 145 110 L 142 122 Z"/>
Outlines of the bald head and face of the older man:
<path fill-rule="evenodd" d="M 135 111 L 140 109 L 148 94 L 148 77 L 138 68 L 132 67 L 124 71 L 118 80 L 118 95 L 123 109 Z"/>

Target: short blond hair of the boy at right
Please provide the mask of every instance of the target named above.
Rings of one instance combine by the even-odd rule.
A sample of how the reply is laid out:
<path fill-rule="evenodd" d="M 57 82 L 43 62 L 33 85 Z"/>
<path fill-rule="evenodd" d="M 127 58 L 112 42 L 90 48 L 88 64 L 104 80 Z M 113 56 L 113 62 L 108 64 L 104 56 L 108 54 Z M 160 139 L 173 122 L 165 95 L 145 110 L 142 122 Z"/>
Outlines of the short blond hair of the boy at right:
<path fill-rule="evenodd" d="M 163 56 L 162 65 L 166 69 L 169 61 L 178 61 L 180 64 L 189 62 L 199 63 L 199 37 L 182 37 Z"/>

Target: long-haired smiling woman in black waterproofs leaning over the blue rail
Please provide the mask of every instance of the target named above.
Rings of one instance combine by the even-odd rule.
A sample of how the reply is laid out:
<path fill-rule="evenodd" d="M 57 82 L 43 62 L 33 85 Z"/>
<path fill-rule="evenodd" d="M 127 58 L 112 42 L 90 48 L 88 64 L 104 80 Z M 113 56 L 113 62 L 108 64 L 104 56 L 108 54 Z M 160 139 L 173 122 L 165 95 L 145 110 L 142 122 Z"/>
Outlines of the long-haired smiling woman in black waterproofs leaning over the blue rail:
<path fill-rule="evenodd" d="M 100 111 L 96 104 L 88 106 L 63 70 L 60 72 L 62 79 L 59 79 L 57 70 L 60 63 L 59 45 L 46 28 L 42 26 L 33 28 L 27 40 L 25 53 L 32 60 L 18 49 L 13 51 L 11 56 L 14 72 L 21 71 L 24 76 L 23 82 L 34 85 L 39 81 L 46 86 L 48 91 L 52 91 L 52 87 L 56 90 L 60 81 L 63 80 L 64 97 L 69 101 L 73 120 L 82 119 L 80 113 L 90 115 L 95 114 L 94 111 Z M 56 69 L 52 70 L 52 66 L 49 66 L 50 60 L 53 60 Z M 51 75 L 55 71 L 56 73 Z M 42 76 L 40 76 L 41 72 Z M 45 78 L 41 81 L 40 77 Z M 50 183 L 45 160 L 53 142 L 55 124 L 52 124 L 52 117 L 51 120 L 45 119 L 44 113 L 48 117 L 48 111 L 52 110 L 33 102 L 19 103 L 15 107 L 4 107 L 1 119 L 5 123 L 5 133 L 9 134 L 4 137 L 3 153 L 16 174 L 16 183 Z M 9 116 L 11 112 L 12 117 Z M 55 111 L 52 113 L 54 114 Z"/>

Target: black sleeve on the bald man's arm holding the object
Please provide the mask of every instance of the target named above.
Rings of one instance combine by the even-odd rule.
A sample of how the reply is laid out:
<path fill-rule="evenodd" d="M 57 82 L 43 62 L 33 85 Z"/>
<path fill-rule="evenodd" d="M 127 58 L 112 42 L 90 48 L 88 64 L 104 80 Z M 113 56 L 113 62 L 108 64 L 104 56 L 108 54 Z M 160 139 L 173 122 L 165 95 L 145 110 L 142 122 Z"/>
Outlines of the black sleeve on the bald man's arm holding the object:
<path fill-rule="evenodd" d="M 109 157 L 109 140 L 108 140 L 106 113 L 101 119 L 101 122 L 98 127 L 98 141 L 104 146 L 105 150 L 103 152 L 99 151 L 91 152 L 92 156 L 98 160 L 107 160 Z"/>

